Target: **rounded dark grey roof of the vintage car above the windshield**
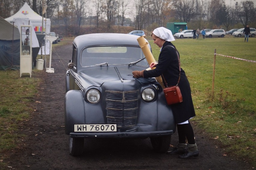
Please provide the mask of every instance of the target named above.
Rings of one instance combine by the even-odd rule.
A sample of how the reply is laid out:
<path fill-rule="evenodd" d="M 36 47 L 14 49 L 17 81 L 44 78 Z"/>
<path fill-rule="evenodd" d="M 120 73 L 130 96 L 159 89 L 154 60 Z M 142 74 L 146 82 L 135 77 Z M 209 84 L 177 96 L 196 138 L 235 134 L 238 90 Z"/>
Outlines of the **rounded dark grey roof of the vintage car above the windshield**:
<path fill-rule="evenodd" d="M 140 36 L 119 33 L 96 33 L 77 36 L 73 43 L 78 47 L 94 45 L 135 45 L 139 46 L 137 38 Z M 146 40 L 147 41 L 147 40 Z"/>

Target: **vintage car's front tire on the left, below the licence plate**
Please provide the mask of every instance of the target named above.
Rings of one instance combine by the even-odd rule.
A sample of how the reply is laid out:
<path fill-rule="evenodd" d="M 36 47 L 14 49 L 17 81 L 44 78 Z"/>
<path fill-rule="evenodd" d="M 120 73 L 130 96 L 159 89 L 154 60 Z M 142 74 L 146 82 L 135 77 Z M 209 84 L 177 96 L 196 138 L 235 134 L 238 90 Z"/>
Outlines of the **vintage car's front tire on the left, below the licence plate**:
<path fill-rule="evenodd" d="M 72 156 L 80 156 L 84 151 L 84 138 L 71 138 L 69 136 L 69 152 Z"/>

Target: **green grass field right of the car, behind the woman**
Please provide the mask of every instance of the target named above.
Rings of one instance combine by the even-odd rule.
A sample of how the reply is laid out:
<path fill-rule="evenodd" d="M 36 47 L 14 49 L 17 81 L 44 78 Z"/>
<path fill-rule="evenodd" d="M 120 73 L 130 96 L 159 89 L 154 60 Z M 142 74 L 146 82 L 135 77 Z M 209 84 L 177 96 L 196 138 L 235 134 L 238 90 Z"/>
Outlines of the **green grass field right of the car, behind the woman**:
<path fill-rule="evenodd" d="M 148 39 L 158 59 L 159 47 Z M 181 67 L 190 82 L 197 116 L 192 119 L 212 139 L 256 165 L 255 83 L 256 38 L 184 38 L 172 42 L 180 53 Z M 216 49 L 214 95 L 213 62 Z"/>

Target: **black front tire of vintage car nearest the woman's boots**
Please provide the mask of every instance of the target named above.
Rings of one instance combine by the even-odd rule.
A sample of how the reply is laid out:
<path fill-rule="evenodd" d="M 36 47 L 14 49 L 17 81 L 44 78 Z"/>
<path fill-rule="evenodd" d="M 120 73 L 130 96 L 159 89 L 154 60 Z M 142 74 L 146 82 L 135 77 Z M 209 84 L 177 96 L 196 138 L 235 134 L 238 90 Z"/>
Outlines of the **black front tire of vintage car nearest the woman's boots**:
<path fill-rule="evenodd" d="M 150 141 L 155 152 L 165 153 L 170 147 L 171 136 L 150 138 Z"/>

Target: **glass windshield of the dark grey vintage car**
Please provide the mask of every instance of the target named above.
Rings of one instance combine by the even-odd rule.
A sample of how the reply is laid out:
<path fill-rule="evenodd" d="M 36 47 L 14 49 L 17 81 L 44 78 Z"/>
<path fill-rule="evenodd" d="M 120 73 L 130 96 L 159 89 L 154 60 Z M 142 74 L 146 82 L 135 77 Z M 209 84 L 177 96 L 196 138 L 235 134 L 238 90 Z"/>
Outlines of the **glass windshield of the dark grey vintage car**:
<path fill-rule="evenodd" d="M 93 46 L 82 50 L 81 66 L 94 66 L 100 63 L 128 65 L 144 57 L 141 48 L 136 46 Z M 135 65 L 148 67 L 148 62 L 142 60 Z"/>

